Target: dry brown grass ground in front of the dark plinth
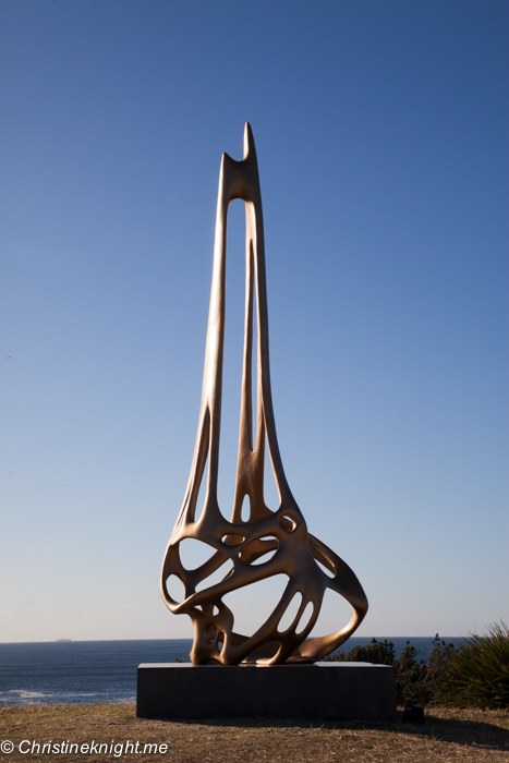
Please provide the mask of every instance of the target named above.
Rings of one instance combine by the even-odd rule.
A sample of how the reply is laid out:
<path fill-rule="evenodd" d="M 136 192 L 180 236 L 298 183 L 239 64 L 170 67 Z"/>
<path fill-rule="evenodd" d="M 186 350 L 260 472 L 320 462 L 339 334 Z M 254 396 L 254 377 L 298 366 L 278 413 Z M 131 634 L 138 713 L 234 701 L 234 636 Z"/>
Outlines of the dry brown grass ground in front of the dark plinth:
<path fill-rule="evenodd" d="M 0 761 L 167 763 L 435 763 L 509 761 L 509 711 L 427 708 L 422 727 L 301 720 L 144 720 L 133 705 L 35 705 L 0 710 L 0 741 L 166 742 L 166 754 L 12 754 Z"/>

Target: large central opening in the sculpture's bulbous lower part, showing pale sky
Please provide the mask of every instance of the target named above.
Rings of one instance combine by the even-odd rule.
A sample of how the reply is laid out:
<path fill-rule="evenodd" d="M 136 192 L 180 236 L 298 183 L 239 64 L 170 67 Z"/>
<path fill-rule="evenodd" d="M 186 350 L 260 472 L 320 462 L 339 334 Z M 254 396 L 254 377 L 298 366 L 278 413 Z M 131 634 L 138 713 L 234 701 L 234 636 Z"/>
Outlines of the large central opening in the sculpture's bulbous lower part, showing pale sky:
<path fill-rule="evenodd" d="M 281 572 L 221 596 L 233 614 L 235 633 L 252 635 L 265 623 L 281 601 L 288 580 Z"/>

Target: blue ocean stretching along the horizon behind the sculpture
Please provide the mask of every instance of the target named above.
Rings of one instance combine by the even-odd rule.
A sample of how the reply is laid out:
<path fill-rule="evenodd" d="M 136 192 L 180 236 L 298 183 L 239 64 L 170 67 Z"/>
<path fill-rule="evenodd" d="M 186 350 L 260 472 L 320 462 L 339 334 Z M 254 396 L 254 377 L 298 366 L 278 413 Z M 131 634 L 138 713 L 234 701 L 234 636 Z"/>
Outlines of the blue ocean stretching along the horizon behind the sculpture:
<path fill-rule="evenodd" d="M 407 641 L 426 659 L 432 637 L 389 638 L 399 657 Z M 444 639 L 457 641 L 457 639 Z M 371 639 L 353 638 L 349 651 Z M 189 662 L 191 639 L 0 643 L 0 702 L 8 705 L 135 702 L 140 663 Z"/>

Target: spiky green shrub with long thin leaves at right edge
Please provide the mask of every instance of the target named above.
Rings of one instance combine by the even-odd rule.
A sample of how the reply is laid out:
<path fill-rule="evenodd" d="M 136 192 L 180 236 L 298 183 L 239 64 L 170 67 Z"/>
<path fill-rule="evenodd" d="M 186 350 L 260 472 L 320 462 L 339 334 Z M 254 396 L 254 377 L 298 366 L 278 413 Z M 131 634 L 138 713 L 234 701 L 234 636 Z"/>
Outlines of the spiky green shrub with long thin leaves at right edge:
<path fill-rule="evenodd" d="M 471 633 L 450 659 L 450 671 L 437 702 L 456 707 L 509 706 L 509 628 L 488 627 L 488 635 Z"/>

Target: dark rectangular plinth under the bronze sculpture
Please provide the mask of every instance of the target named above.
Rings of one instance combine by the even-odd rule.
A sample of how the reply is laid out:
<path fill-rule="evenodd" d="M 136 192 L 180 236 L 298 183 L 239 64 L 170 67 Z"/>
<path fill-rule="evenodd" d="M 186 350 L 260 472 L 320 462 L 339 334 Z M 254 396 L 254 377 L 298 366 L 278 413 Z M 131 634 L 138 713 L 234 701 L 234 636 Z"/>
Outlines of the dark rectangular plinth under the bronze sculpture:
<path fill-rule="evenodd" d="M 322 718 L 396 720 L 388 665 L 142 664 L 138 718 Z"/>

